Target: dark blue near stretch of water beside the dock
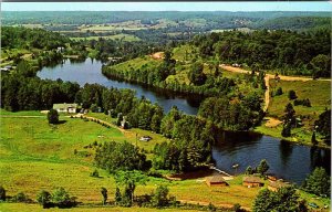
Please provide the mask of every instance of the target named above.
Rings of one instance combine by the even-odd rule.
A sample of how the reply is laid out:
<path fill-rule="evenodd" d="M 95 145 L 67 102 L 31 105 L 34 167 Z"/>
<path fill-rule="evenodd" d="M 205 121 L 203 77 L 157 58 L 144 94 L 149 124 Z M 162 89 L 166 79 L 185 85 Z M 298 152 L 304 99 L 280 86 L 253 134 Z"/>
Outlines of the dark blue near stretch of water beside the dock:
<path fill-rule="evenodd" d="M 318 166 L 331 171 L 331 151 L 307 146 L 279 141 L 277 138 L 252 132 L 224 131 L 218 136 L 218 142 L 212 149 L 216 166 L 229 173 L 239 163 L 237 172 L 245 172 L 248 166 L 257 167 L 267 159 L 268 172 L 300 184 Z"/>

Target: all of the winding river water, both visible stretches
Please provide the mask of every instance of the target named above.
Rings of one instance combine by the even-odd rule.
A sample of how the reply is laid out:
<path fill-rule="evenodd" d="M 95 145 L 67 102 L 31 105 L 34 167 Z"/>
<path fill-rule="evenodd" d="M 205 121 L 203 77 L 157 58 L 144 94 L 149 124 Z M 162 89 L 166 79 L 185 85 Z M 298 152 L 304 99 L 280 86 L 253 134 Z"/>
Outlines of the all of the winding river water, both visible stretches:
<path fill-rule="evenodd" d="M 84 62 L 71 63 L 64 61 L 52 67 L 43 67 L 38 72 L 40 78 L 76 82 L 81 86 L 86 83 L 97 83 L 106 87 L 131 88 L 136 96 L 145 96 L 153 103 L 158 103 L 167 113 L 172 106 L 177 106 L 186 114 L 196 115 L 200 99 L 195 97 L 172 95 L 157 92 L 141 85 L 106 78 L 102 72 L 102 63 L 86 59 Z M 261 159 L 267 159 L 270 170 L 280 178 L 300 184 L 314 167 L 324 167 L 330 172 L 331 150 L 293 145 L 288 141 L 253 132 L 220 132 L 218 142 L 212 150 L 217 168 L 229 173 L 243 172 L 248 166 L 256 167 Z M 238 163 L 238 169 L 231 166 Z"/>

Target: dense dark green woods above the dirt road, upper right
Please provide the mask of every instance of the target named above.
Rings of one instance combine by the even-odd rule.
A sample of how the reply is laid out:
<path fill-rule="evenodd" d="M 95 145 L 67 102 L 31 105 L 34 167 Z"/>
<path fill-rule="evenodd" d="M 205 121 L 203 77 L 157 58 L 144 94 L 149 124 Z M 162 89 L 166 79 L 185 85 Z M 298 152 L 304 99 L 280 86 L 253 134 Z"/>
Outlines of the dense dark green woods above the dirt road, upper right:
<path fill-rule="evenodd" d="M 259 64 L 264 70 L 281 68 L 282 74 L 331 75 L 331 36 L 329 30 L 311 33 L 292 31 L 229 31 L 195 36 L 201 57 L 217 57 L 224 63 Z"/>

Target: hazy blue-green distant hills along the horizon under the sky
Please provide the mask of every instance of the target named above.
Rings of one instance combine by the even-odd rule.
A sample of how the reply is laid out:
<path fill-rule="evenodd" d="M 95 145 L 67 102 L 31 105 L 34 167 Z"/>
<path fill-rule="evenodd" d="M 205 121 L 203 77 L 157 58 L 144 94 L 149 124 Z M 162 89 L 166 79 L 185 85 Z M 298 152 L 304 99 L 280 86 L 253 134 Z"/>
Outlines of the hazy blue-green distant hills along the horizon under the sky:
<path fill-rule="evenodd" d="M 141 20 L 142 24 L 154 25 L 160 19 L 167 19 L 175 22 L 186 20 L 205 19 L 206 24 L 212 29 L 230 29 L 235 26 L 250 26 L 264 23 L 266 20 L 287 18 L 287 17 L 329 17 L 329 12 L 125 12 L 125 11 L 3 11 L 3 24 L 50 24 L 48 28 L 56 24 L 104 24 L 118 23 L 131 20 Z M 247 20 L 247 21 L 243 21 Z M 54 24 L 54 25 L 53 25 Z M 58 30 L 58 29 L 55 29 Z"/>

